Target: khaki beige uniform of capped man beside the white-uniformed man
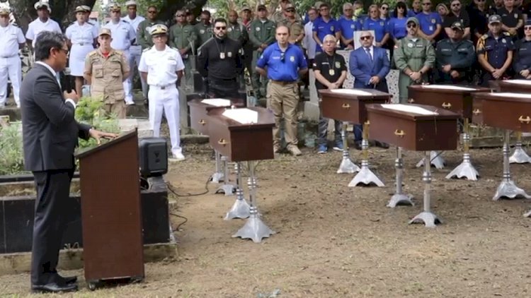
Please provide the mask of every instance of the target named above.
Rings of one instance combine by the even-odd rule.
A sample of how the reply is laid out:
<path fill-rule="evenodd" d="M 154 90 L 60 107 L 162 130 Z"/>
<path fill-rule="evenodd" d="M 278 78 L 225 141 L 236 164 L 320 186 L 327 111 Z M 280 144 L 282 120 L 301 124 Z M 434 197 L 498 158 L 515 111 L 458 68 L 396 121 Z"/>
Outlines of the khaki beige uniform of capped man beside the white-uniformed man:
<path fill-rule="evenodd" d="M 85 59 L 85 74 L 91 76 L 91 96 L 101 97 L 107 113 L 118 119 L 125 118 L 125 92 L 122 82 L 130 68 L 127 57 L 120 51 L 111 50 L 105 58 L 100 49 L 89 53 Z"/>

